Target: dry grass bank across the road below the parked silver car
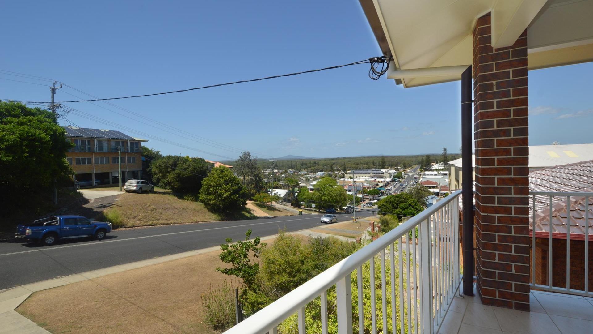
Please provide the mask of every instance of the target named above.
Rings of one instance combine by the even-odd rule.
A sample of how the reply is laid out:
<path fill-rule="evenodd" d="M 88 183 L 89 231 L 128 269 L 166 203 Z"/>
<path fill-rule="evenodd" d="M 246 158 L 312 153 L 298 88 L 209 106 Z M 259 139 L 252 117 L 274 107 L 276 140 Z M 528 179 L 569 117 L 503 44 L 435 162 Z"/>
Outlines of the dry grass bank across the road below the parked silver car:
<path fill-rule="evenodd" d="M 119 214 L 120 227 L 221 220 L 218 215 L 206 210 L 202 203 L 164 194 L 122 194 L 116 204 L 105 210 L 104 214 L 111 217 L 114 212 Z"/>

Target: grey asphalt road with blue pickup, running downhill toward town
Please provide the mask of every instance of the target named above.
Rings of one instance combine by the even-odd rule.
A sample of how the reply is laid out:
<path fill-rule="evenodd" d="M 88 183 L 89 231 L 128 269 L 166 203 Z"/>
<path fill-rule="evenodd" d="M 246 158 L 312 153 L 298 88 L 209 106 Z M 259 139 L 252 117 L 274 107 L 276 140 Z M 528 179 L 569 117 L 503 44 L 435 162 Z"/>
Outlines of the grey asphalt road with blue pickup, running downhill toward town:
<path fill-rule="evenodd" d="M 371 212 L 356 212 L 369 216 Z M 248 229 L 252 237 L 277 234 L 279 229 L 298 231 L 324 225 L 321 215 L 285 216 L 250 220 L 150 226 L 117 229 L 102 241 L 79 238 L 57 245 L 0 241 L 0 289 L 151 259 L 223 244 L 225 238 L 243 240 Z M 352 215 L 338 215 L 338 221 Z"/>

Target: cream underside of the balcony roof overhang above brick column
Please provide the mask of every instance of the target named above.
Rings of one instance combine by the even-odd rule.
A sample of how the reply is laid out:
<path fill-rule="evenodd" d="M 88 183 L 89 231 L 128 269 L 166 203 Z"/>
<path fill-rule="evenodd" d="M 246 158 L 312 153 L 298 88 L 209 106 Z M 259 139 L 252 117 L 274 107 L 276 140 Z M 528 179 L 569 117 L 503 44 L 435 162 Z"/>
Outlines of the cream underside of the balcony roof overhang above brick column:
<path fill-rule="evenodd" d="M 489 12 L 494 48 L 511 46 L 527 29 L 530 70 L 593 61 L 593 0 L 359 2 L 381 51 L 393 57 L 390 69 L 398 70 L 399 75 L 403 75 L 400 70 L 408 74 L 419 70 L 415 73 L 426 75 L 391 75 L 404 87 L 460 80 L 463 68 L 472 64 L 472 31 L 477 18 Z M 450 73 L 447 67 L 454 66 L 458 68 L 449 68 L 455 72 Z M 439 70 L 447 71 L 431 76 Z"/>

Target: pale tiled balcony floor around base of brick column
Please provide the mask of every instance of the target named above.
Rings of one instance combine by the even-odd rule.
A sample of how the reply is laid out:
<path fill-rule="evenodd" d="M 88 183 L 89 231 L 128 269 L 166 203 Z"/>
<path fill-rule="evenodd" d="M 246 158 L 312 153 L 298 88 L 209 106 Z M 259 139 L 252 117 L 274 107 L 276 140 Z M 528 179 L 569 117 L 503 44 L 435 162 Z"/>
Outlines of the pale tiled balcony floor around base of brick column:
<path fill-rule="evenodd" d="M 475 289 L 475 286 L 474 286 Z M 593 298 L 531 291 L 531 312 L 482 305 L 473 297 L 455 297 L 441 334 L 591 334 Z"/>

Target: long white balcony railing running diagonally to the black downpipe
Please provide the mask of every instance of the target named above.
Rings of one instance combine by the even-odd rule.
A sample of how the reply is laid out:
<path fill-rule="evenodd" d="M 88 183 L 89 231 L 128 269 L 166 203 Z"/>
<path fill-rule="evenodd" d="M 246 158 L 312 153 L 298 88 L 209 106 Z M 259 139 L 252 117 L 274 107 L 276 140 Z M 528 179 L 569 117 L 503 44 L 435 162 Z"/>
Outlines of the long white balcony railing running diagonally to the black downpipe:
<path fill-rule="evenodd" d="M 364 293 L 371 295 L 372 333 L 437 333 L 460 283 L 460 194 L 461 191 L 455 191 L 226 333 L 275 334 L 278 324 L 297 313 L 298 332 L 304 334 L 305 306 L 320 297 L 320 327 L 321 332 L 327 334 L 327 291 L 333 286 L 336 286 L 336 310 L 332 311 L 336 312 L 334 319 L 337 319 L 340 334 L 356 331 L 356 320 L 353 323 L 356 316 L 358 332 L 365 333 L 364 323 L 369 319 L 365 319 L 368 315 L 365 316 L 362 311 Z M 417 238 L 414 232 L 416 229 Z M 374 275 L 377 260 L 381 266 L 380 282 L 376 282 L 378 279 Z M 363 265 L 366 266 L 366 262 L 370 266 L 370 286 L 363 285 Z M 352 275 L 355 271 L 356 280 Z M 354 299 L 351 286 L 353 282 L 358 286 L 358 297 Z M 381 297 L 376 296 L 379 290 Z M 389 306 L 388 294 L 391 297 Z M 380 300 L 381 307 L 375 304 L 377 300 Z M 352 303 L 358 303 L 358 310 L 361 310 L 358 314 L 353 314 Z M 390 324 L 388 307 L 391 310 Z M 378 312 L 380 319 L 377 317 Z"/>

